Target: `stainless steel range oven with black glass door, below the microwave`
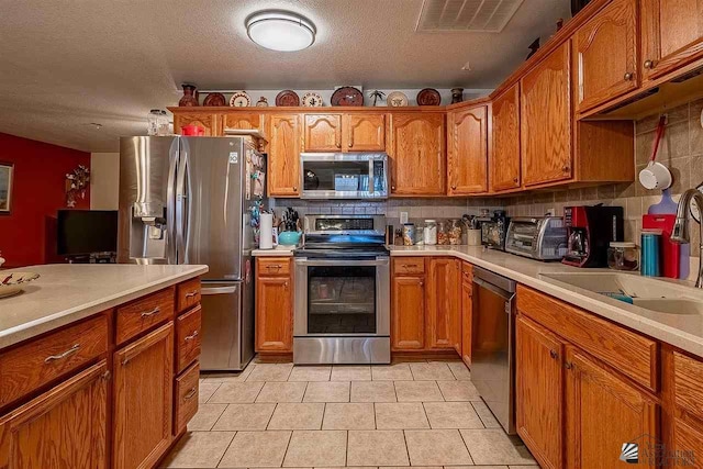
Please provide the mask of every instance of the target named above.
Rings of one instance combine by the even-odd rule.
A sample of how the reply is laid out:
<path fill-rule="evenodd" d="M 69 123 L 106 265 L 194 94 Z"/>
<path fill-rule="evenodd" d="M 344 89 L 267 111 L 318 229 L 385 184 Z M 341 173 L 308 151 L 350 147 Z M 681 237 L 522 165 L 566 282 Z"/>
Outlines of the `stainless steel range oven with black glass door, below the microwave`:
<path fill-rule="evenodd" d="M 386 219 L 309 215 L 295 249 L 293 362 L 389 364 Z"/>

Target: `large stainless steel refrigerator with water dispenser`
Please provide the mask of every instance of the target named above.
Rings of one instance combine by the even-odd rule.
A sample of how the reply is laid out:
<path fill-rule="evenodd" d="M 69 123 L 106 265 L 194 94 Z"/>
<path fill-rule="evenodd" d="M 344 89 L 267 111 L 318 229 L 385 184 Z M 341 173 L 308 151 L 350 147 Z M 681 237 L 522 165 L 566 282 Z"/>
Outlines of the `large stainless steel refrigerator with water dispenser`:
<path fill-rule="evenodd" d="M 207 264 L 203 370 L 241 370 L 254 356 L 252 214 L 264 158 L 247 137 L 120 139 L 118 260 Z"/>

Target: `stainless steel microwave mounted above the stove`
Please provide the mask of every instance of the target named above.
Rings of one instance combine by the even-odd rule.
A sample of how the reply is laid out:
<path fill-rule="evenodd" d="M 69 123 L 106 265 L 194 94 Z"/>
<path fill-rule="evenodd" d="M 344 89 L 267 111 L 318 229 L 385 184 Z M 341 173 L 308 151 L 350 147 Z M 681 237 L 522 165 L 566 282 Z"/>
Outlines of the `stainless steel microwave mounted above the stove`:
<path fill-rule="evenodd" d="M 302 153 L 301 199 L 387 199 L 384 153 Z"/>

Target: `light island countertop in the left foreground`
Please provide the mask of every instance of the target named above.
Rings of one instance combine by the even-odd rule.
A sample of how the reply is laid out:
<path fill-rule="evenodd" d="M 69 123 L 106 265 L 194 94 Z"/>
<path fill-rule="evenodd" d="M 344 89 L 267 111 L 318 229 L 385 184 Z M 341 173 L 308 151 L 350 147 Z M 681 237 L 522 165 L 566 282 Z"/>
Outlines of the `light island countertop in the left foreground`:
<path fill-rule="evenodd" d="M 54 264 L 1 270 L 36 272 L 23 292 L 0 299 L 0 348 L 208 271 L 208 266 Z"/>

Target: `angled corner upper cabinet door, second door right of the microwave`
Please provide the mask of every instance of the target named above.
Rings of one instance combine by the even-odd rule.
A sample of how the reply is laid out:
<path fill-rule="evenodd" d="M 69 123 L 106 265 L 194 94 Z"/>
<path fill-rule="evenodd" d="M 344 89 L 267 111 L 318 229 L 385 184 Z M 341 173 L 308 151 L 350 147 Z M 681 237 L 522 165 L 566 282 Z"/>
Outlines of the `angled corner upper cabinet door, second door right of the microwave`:
<path fill-rule="evenodd" d="M 449 196 L 488 191 L 488 108 L 448 114 Z"/>

